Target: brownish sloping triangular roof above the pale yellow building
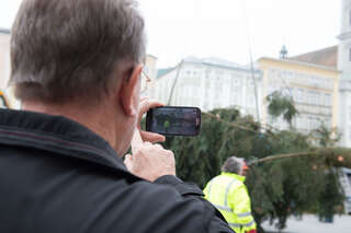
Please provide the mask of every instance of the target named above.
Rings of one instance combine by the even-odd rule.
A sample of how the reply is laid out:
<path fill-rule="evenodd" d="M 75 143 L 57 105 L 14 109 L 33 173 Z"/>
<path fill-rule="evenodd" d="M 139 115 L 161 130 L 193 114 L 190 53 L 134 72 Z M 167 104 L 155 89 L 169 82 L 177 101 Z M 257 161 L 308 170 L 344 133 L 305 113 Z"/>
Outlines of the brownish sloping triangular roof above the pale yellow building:
<path fill-rule="evenodd" d="M 338 46 L 322 48 L 316 51 L 290 57 L 288 60 L 295 60 L 306 63 L 314 63 L 322 67 L 338 68 Z"/>

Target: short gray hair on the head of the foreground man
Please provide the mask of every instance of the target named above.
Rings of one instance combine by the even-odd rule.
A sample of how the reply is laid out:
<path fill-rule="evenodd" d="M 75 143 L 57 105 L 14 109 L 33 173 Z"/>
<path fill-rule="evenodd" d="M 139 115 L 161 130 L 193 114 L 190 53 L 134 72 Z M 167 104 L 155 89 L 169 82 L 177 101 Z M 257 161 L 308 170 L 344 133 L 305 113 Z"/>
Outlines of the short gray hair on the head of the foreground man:
<path fill-rule="evenodd" d="M 21 101 L 95 100 L 114 86 L 112 72 L 126 62 L 133 69 L 145 50 L 135 0 L 24 0 L 12 27 L 9 84 Z"/>

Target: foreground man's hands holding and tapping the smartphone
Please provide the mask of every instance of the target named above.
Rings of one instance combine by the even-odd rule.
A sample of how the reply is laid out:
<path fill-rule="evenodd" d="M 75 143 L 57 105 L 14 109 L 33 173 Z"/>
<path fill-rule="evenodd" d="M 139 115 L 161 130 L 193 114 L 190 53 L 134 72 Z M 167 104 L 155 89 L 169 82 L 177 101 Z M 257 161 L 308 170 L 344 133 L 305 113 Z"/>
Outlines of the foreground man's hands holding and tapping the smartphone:
<path fill-rule="evenodd" d="M 140 131 L 143 115 L 151 107 L 162 106 L 157 102 L 143 100 L 138 118 L 138 127 L 132 139 L 132 154 L 125 156 L 124 163 L 128 171 L 136 176 L 154 182 L 163 175 L 176 176 L 176 160 L 171 151 L 165 150 L 160 144 L 151 142 L 165 141 L 158 133 Z"/>

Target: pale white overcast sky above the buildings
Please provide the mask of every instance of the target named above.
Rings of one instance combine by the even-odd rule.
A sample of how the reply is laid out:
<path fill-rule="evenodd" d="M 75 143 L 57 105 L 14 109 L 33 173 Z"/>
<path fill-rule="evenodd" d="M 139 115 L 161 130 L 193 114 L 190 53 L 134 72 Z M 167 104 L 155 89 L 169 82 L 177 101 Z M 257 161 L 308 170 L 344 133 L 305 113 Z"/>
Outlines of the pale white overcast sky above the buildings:
<path fill-rule="evenodd" d="M 21 0 L 0 0 L 0 27 L 9 28 Z M 298 55 L 338 44 L 341 0 L 139 0 L 148 53 L 159 67 L 183 57 L 238 63 L 278 57 L 283 44 Z M 251 43 L 249 43 L 249 40 Z"/>

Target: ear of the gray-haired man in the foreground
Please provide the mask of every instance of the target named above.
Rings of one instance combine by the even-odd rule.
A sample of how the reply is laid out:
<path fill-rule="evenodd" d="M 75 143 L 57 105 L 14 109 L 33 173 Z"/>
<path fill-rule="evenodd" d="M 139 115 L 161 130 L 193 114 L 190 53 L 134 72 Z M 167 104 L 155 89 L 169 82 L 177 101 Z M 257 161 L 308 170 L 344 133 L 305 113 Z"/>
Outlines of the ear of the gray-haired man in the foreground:
<path fill-rule="evenodd" d="M 141 70 L 143 66 L 138 65 L 123 74 L 123 82 L 120 91 L 120 103 L 124 114 L 128 117 L 135 117 L 138 112 L 140 98 L 139 77 Z"/>

